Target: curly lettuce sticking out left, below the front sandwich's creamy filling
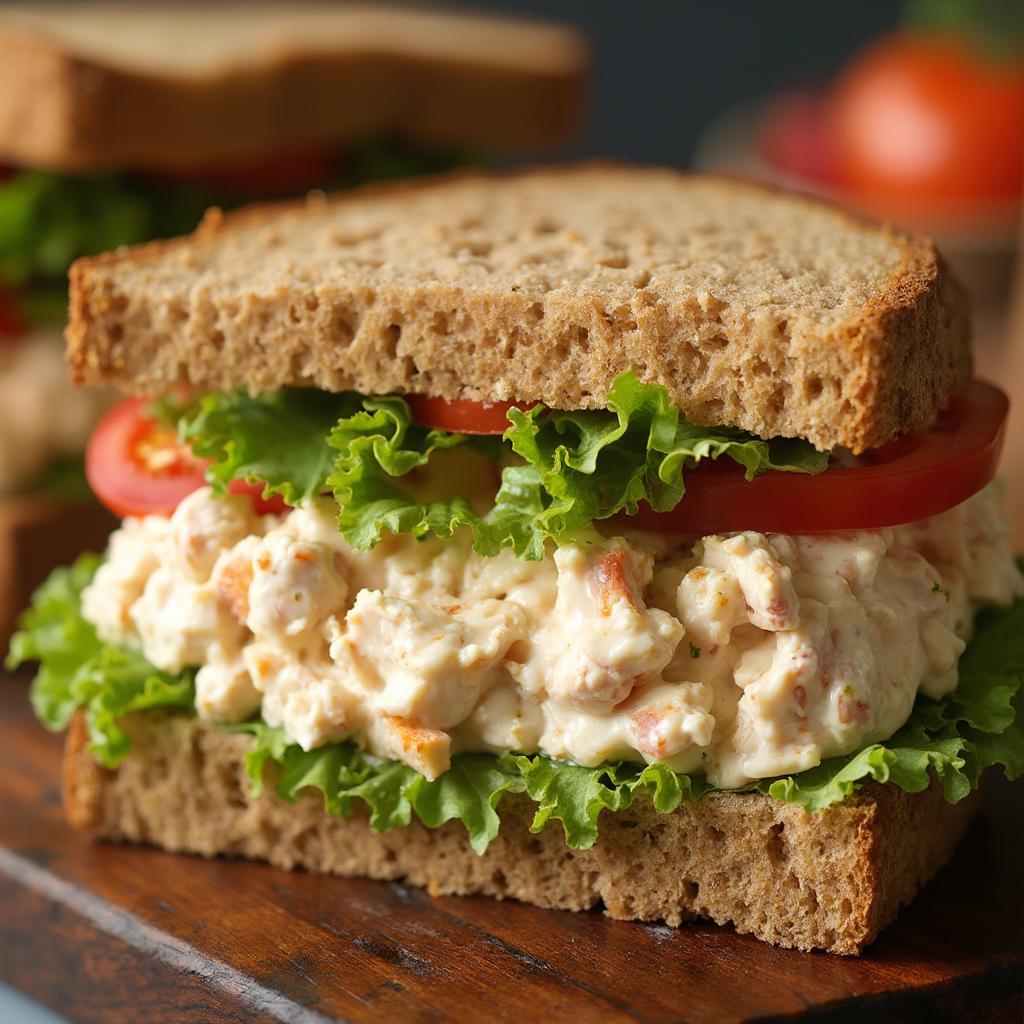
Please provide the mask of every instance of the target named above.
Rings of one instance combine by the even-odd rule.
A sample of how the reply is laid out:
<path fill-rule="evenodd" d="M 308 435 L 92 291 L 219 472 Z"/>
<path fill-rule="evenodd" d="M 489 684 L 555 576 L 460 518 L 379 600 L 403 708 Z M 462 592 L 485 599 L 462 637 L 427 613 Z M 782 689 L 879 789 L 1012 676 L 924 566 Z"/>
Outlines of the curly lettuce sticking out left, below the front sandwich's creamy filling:
<path fill-rule="evenodd" d="M 123 716 L 157 708 L 191 709 L 196 692 L 193 673 L 160 672 L 141 654 L 103 643 L 82 617 L 82 591 L 99 563 L 97 555 L 82 555 L 36 591 L 11 638 L 6 665 L 16 669 L 38 662 L 31 695 L 40 721 L 48 729 L 63 729 L 84 710 L 89 750 L 113 768 L 131 749 L 119 724 Z"/>

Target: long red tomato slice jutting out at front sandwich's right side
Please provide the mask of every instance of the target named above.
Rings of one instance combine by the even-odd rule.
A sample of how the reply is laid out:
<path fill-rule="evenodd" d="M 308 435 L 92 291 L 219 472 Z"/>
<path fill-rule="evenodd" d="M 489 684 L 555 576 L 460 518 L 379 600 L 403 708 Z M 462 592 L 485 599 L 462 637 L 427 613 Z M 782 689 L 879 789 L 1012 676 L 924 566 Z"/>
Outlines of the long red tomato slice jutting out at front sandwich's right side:
<path fill-rule="evenodd" d="M 771 470 L 748 481 L 731 460 L 701 463 L 686 474 L 686 495 L 671 512 L 641 504 L 618 521 L 695 536 L 830 534 L 916 522 L 967 501 L 992 479 L 1009 408 L 997 387 L 972 381 L 931 429 L 866 453 L 859 465 L 818 476 Z"/>

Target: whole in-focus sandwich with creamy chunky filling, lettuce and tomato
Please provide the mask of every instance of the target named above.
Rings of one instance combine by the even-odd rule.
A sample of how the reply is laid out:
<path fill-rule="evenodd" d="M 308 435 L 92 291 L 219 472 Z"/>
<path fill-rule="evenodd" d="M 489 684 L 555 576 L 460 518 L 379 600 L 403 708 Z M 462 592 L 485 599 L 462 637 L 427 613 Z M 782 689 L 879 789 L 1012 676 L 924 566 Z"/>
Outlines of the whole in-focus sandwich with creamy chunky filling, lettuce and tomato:
<path fill-rule="evenodd" d="M 9 664 L 105 840 L 858 953 L 1024 769 L 1024 580 L 932 244 L 628 165 L 83 259 L 125 518 Z"/>

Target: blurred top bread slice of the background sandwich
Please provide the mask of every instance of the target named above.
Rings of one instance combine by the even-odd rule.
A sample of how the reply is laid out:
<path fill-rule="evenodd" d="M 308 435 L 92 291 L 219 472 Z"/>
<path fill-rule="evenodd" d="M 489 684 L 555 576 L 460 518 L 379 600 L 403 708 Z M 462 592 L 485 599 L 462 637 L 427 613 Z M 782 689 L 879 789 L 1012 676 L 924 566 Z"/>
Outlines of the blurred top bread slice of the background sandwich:
<path fill-rule="evenodd" d="M 423 6 L 4 4 L 0 163 L 186 170 L 391 134 L 532 152 L 579 124 L 587 63 L 573 30 Z"/>

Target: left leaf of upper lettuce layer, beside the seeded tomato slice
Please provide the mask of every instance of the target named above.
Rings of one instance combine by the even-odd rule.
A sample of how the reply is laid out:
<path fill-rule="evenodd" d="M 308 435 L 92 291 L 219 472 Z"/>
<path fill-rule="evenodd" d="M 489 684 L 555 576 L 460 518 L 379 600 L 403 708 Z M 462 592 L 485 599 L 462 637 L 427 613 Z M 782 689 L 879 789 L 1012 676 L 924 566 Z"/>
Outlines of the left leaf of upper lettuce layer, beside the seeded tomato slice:
<path fill-rule="evenodd" d="M 387 534 L 451 537 L 470 526 L 481 554 L 505 545 L 540 558 L 545 535 L 537 528 L 542 498 L 529 467 L 510 467 L 495 506 L 477 515 L 462 497 L 424 501 L 397 484 L 437 452 L 470 447 L 497 459 L 498 438 L 425 430 L 412 422 L 400 398 L 365 398 L 346 392 L 285 389 L 261 395 L 212 392 L 181 408 L 173 398 L 155 415 L 177 426 L 193 452 L 210 461 L 207 480 L 218 494 L 238 477 L 262 483 L 263 496 L 289 505 L 333 489 L 345 539 L 368 550 Z"/>

